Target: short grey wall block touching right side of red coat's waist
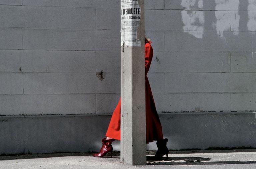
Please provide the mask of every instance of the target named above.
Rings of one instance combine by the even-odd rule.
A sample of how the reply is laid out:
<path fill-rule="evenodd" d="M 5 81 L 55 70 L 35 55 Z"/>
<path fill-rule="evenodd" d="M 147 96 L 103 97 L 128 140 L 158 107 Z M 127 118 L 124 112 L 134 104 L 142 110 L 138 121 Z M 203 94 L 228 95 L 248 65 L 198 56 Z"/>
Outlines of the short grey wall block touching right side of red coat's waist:
<path fill-rule="evenodd" d="M 151 73 L 147 74 L 148 81 L 153 93 L 165 92 L 165 76 L 164 73 Z"/>

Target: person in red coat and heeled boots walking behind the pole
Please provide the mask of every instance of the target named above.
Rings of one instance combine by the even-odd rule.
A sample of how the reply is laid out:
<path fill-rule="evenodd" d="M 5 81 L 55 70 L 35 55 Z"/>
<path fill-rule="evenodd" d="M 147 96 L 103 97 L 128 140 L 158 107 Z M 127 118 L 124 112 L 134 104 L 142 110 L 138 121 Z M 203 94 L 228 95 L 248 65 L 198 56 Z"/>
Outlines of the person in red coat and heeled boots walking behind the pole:
<path fill-rule="evenodd" d="M 153 94 L 149 85 L 149 81 L 147 78 L 147 73 L 149 71 L 149 67 L 153 58 L 153 48 L 150 45 L 151 41 L 145 37 L 145 103 L 146 103 L 146 142 L 157 141 L 158 150 L 155 154 L 156 159 L 162 158 L 162 156 L 166 155 L 168 158 L 169 150 L 166 147 L 166 143 L 168 139 L 163 139 L 163 132 L 161 122 L 159 120 L 155 102 L 153 99 Z M 102 139 L 102 147 L 99 153 L 93 154 L 94 157 L 104 157 L 108 152 L 111 154 L 113 147 L 111 143 L 113 141 L 120 140 L 120 123 L 121 123 L 121 98 L 113 111 L 105 138 Z"/>

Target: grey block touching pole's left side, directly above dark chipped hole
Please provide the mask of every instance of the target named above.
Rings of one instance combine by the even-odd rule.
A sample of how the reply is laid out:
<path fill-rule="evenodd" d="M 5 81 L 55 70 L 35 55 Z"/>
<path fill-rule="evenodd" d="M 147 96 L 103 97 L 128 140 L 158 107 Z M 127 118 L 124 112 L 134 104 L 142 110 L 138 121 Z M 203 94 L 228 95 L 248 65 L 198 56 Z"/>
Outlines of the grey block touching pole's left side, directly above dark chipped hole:
<path fill-rule="evenodd" d="M 120 51 L 96 51 L 96 72 L 120 72 Z"/>

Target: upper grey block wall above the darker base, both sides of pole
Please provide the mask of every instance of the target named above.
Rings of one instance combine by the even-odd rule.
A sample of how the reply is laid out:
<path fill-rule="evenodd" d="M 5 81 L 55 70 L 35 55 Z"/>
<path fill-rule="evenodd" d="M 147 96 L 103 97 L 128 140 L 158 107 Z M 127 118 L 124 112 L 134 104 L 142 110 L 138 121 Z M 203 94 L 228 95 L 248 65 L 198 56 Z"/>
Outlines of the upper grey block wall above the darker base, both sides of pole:
<path fill-rule="evenodd" d="M 254 4 L 145 0 L 159 113 L 256 110 Z M 119 0 L 0 0 L 0 115 L 111 113 L 120 97 L 119 10 Z"/>

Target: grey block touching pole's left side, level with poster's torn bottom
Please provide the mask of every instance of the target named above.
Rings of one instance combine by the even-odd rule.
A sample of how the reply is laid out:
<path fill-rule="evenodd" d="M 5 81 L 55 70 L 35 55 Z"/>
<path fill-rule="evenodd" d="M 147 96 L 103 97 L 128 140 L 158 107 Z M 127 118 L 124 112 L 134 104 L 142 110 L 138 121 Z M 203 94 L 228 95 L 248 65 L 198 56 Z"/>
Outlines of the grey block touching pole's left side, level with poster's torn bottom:
<path fill-rule="evenodd" d="M 120 39 L 120 30 L 98 30 L 96 32 L 96 49 L 98 51 L 120 51 Z"/>

